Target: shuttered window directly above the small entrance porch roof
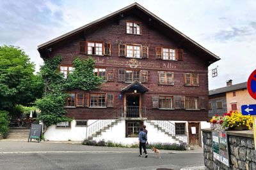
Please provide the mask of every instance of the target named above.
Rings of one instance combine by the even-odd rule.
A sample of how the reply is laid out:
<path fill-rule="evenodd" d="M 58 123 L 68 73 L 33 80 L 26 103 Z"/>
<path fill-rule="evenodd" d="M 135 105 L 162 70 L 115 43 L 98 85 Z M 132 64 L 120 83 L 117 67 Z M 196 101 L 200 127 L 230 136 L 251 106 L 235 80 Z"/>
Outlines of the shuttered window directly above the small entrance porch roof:
<path fill-rule="evenodd" d="M 141 81 L 147 83 L 148 71 L 147 70 L 130 70 L 118 69 L 118 81 L 132 83 L 133 81 Z"/>

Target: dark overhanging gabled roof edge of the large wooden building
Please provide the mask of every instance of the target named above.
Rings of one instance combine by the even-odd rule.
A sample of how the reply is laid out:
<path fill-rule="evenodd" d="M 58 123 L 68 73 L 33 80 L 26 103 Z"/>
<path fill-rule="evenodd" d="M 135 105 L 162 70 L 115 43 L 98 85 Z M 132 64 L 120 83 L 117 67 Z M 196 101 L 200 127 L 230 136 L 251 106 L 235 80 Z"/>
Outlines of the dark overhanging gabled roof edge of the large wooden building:
<path fill-rule="evenodd" d="M 133 3 L 129 6 L 126 6 L 125 8 L 122 8 L 121 10 L 115 11 L 114 13 L 107 15 L 106 17 L 99 18 L 98 20 L 95 20 L 90 24 L 86 24 L 82 27 L 79 27 L 74 31 L 67 32 L 66 34 L 63 34 L 58 38 L 54 38 L 50 41 L 47 41 L 46 43 L 43 43 L 42 45 L 38 45 L 38 52 L 42 57 L 42 53 L 44 53 L 45 50 L 47 50 L 47 48 L 51 48 L 52 45 L 60 43 L 61 41 L 65 41 L 68 38 L 71 38 L 72 36 L 83 34 L 84 31 L 86 31 L 87 29 L 92 29 L 93 27 L 97 27 L 97 25 L 99 24 L 107 23 L 109 20 L 115 20 L 118 18 L 120 19 L 120 16 L 124 17 L 125 14 L 129 15 L 131 14 L 131 12 L 147 20 L 148 24 L 152 25 L 153 27 L 156 27 L 157 29 L 159 29 L 159 31 L 163 32 L 163 34 L 166 34 L 166 36 L 170 36 L 174 41 L 179 43 L 180 46 L 184 46 L 189 51 L 195 52 L 197 55 L 201 56 L 202 59 L 208 62 L 208 65 L 212 64 L 213 62 L 216 62 L 217 60 L 220 60 L 220 58 L 217 55 L 210 52 L 203 46 L 199 45 L 198 43 L 193 41 L 193 39 L 182 34 L 182 32 L 172 27 L 172 25 L 169 25 L 168 23 L 164 22 L 163 20 L 161 20 L 161 18 L 157 17 L 147 9 L 143 8 L 143 6 L 141 6 L 138 3 Z"/>

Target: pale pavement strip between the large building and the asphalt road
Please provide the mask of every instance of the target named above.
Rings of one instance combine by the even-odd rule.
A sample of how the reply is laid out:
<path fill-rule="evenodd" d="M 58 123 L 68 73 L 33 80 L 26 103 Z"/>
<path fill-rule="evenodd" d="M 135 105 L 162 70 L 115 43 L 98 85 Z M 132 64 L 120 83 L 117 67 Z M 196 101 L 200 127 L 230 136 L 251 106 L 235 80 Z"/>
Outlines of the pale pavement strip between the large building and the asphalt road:
<path fill-rule="evenodd" d="M 36 153 L 36 152 L 138 152 L 138 148 L 117 148 L 107 146 L 87 146 L 74 141 L 51 142 L 42 141 L 4 141 L 0 140 L 0 153 Z M 152 152 L 148 150 L 148 152 Z M 161 150 L 161 153 L 203 153 L 203 149 L 195 147 L 195 150 Z"/>

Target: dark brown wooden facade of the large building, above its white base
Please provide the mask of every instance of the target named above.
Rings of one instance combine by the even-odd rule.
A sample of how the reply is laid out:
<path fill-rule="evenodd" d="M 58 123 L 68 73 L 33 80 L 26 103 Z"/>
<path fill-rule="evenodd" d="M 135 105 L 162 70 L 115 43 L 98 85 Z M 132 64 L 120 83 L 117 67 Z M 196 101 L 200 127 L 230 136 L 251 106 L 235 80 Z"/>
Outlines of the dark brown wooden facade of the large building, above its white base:
<path fill-rule="evenodd" d="M 207 67 L 218 60 L 218 57 L 210 52 L 205 52 L 204 48 L 202 50 L 202 47 L 198 47 L 195 42 L 180 38 L 177 36 L 179 33 L 177 31 L 171 30 L 172 34 L 169 34 L 170 28 L 167 28 L 162 21 L 157 20 L 156 16 L 141 9 L 142 7 L 138 4 L 133 4 L 129 8 L 97 20 L 79 31 L 70 32 L 66 36 L 38 46 L 38 51 L 45 60 L 58 54 L 62 55 L 61 66 L 72 66 L 76 57 L 87 59 L 92 56 L 95 59 L 95 68 L 106 69 L 106 81 L 102 83 L 100 90 L 70 92 L 76 95 L 76 100 L 78 100 L 77 94 L 83 94 L 83 102 L 77 104 L 75 101 L 75 107 L 67 108 L 69 117 L 84 120 L 100 119 L 115 111 L 120 113 L 118 116 L 126 117 L 125 114 L 129 110 L 127 106 L 135 104 L 134 106 L 140 106 L 140 115 L 135 116 L 139 119 L 150 117 L 155 120 L 208 120 Z M 127 34 L 127 22 L 140 23 L 140 34 Z M 108 45 L 106 48 L 110 49 L 110 52 L 105 50 L 106 55 L 89 55 L 88 43 Z M 127 52 L 127 45 L 139 45 L 140 59 L 120 57 L 122 55 L 121 45 L 126 45 L 124 46 L 125 52 Z M 174 60 L 158 59 L 156 55 L 159 47 L 172 48 L 179 53 L 175 53 Z M 147 53 L 145 57 L 142 57 L 144 56 L 143 49 L 145 50 L 144 55 Z M 95 49 L 93 48 L 93 50 Z M 163 50 L 161 52 L 163 55 Z M 134 71 L 129 74 L 132 80 L 129 83 L 125 82 L 126 79 L 122 81 L 120 78 L 121 71 L 128 70 Z M 161 83 L 159 80 L 161 71 L 172 73 L 173 82 Z M 188 73 L 191 76 L 194 74 L 197 76 L 196 84 L 186 85 Z M 144 76 L 143 80 L 142 76 Z M 111 106 L 91 107 L 92 94 L 105 94 L 105 105 L 108 104 L 108 94 L 111 94 L 110 98 L 113 99 L 113 102 L 109 104 Z M 159 108 L 159 97 L 164 100 L 166 96 L 172 98 L 172 107 L 161 109 Z M 189 97 L 196 97 L 196 108 L 186 108 L 186 101 Z M 169 98 L 165 100 L 167 103 Z"/>

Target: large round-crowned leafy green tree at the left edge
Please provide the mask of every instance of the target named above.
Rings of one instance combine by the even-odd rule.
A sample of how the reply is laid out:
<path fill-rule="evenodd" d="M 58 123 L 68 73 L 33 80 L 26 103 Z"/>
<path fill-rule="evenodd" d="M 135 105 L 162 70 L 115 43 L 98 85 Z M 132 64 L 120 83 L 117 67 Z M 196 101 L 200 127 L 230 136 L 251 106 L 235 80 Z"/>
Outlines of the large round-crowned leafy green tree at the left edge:
<path fill-rule="evenodd" d="M 0 46 L 0 110 L 11 111 L 42 95 L 44 82 L 34 71 L 35 64 L 19 47 Z"/>

